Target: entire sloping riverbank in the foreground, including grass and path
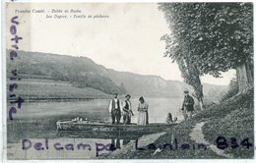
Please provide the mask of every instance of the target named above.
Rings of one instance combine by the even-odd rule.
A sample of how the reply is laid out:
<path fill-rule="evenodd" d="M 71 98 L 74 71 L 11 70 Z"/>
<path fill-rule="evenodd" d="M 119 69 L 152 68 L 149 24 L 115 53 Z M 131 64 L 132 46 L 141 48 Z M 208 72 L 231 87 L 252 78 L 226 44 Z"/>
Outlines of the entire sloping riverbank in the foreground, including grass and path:
<path fill-rule="evenodd" d="M 179 150 L 159 147 L 129 150 L 128 146 L 122 149 L 126 151 L 125 154 L 115 151 L 100 158 L 253 158 L 253 116 L 253 88 L 248 88 L 222 103 L 207 107 L 191 120 L 183 121 L 173 129 L 164 131 L 165 134 L 158 136 L 156 140 L 146 140 L 148 144 L 154 143 L 155 146 L 160 146 L 176 137 L 182 144 L 187 144 L 186 147 L 180 146 Z M 200 126 L 202 131 L 198 135 L 195 131 L 199 131 L 198 124 L 202 122 L 204 122 Z M 196 149 L 200 141 L 207 145 L 206 149 Z M 131 143 L 130 145 L 134 145 L 134 142 Z"/>

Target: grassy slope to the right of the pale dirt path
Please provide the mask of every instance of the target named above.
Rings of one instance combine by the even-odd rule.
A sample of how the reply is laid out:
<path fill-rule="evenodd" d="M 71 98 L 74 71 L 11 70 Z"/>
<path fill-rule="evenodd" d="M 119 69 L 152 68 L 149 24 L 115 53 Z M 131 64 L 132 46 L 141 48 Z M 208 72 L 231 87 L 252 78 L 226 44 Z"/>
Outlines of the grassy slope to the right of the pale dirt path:
<path fill-rule="evenodd" d="M 216 137 L 224 136 L 228 144 L 224 149 L 225 153 L 233 154 L 235 158 L 252 158 L 254 156 L 253 89 L 236 95 L 221 105 L 214 106 L 208 110 L 207 114 L 202 113 L 197 118 L 207 116 L 210 121 L 203 127 L 207 140 L 217 145 Z M 242 140 L 244 141 L 242 142 Z"/>

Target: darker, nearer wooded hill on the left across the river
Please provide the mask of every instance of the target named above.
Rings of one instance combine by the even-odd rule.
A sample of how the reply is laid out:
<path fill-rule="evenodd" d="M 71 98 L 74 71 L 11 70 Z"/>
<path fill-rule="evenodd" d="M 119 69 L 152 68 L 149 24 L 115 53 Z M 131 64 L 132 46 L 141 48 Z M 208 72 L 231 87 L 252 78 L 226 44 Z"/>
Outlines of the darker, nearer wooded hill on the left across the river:
<path fill-rule="evenodd" d="M 11 62 L 7 62 L 11 68 Z M 89 58 L 19 51 L 16 59 L 18 74 L 23 78 L 70 81 L 74 86 L 92 87 L 105 93 L 125 93 L 123 87 L 100 75 L 102 67 Z"/>

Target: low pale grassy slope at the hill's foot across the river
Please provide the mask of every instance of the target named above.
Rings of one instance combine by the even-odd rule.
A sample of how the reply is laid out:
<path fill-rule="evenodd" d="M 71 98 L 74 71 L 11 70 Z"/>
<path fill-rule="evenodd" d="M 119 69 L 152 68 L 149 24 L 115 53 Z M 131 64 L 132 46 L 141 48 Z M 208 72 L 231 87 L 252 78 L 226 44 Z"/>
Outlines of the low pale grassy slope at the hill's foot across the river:
<path fill-rule="evenodd" d="M 8 81 L 10 82 L 10 81 Z M 79 88 L 68 81 L 22 79 L 15 92 L 25 99 L 36 98 L 109 98 L 111 95 L 91 87 Z"/>

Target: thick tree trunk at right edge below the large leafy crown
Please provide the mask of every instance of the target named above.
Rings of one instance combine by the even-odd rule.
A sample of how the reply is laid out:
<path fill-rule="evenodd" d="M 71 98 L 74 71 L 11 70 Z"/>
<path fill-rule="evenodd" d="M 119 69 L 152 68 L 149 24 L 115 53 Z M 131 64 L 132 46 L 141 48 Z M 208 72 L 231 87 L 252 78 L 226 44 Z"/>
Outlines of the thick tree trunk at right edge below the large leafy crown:
<path fill-rule="evenodd" d="M 239 85 L 239 92 L 253 84 L 253 75 L 248 63 L 236 67 L 236 78 Z"/>

